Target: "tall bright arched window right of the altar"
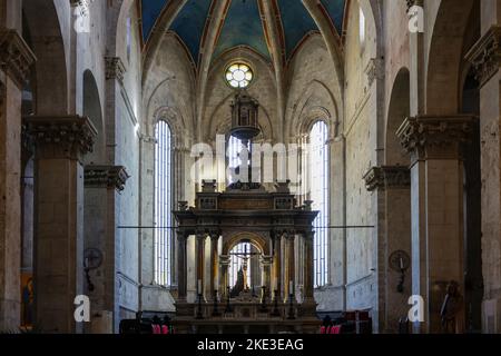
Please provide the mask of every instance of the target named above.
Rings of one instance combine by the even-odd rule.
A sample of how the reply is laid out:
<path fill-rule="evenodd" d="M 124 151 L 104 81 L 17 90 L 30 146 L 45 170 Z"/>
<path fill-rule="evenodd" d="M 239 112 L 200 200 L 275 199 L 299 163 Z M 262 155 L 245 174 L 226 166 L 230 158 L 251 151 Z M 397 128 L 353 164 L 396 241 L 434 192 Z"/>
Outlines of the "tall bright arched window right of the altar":
<path fill-rule="evenodd" d="M 328 128 L 317 121 L 310 132 L 310 194 L 313 209 L 320 211 L 314 221 L 315 286 L 328 283 Z"/>

